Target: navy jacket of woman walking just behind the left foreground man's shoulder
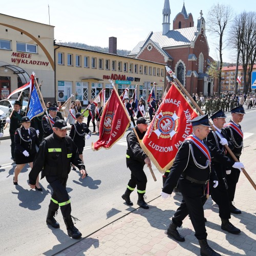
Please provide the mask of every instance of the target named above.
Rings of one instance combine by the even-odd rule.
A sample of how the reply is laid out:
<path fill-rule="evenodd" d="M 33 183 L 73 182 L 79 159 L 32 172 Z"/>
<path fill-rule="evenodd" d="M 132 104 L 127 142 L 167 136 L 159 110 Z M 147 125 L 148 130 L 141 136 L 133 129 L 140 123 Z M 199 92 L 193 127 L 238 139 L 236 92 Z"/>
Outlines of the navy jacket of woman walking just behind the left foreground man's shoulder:
<path fill-rule="evenodd" d="M 91 131 L 87 127 L 86 123 L 74 123 L 71 126 L 69 136 L 74 141 L 77 147 L 84 147 L 86 145 L 85 136 L 86 134 L 91 135 Z"/>

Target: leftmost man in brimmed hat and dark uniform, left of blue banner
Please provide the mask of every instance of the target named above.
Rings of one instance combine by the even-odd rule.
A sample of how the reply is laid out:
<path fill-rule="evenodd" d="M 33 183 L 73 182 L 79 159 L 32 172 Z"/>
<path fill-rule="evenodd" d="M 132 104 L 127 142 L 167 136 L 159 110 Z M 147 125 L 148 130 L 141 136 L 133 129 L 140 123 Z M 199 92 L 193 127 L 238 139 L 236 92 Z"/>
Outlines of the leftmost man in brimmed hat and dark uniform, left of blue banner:
<path fill-rule="evenodd" d="M 14 143 L 14 134 L 15 131 L 19 128 L 20 126 L 20 121 L 22 120 L 23 116 L 26 116 L 26 113 L 24 110 L 21 109 L 22 104 L 20 101 L 15 100 L 14 105 L 13 105 L 13 113 L 12 109 L 9 109 L 8 113 L 6 114 L 6 122 L 10 123 L 10 138 L 11 138 L 11 154 L 12 154 L 12 160 L 15 162 L 15 157 L 14 157 L 14 149 L 15 149 L 15 143 Z M 10 118 L 10 115 L 12 113 L 12 116 Z"/>

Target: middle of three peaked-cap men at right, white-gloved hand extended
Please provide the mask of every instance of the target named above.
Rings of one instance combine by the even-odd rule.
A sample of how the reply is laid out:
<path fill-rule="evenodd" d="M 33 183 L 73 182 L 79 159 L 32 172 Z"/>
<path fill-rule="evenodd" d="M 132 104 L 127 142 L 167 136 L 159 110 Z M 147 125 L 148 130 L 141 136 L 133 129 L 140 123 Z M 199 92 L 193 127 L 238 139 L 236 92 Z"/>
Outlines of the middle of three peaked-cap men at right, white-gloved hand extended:
<path fill-rule="evenodd" d="M 231 167 L 243 167 L 242 163 L 235 163 L 233 159 L 228 158 L 225 154 L 224 145 L 228 145 L 230 149 L 233 148 L 233 142 L 227 136 L 226 131 L 223 130 L 223 125 L 226 122 L 226 115 L 222 110 L 217 111 L 211 117 L 214 122 L 216 132 L 210 131 L 207 136 L 207 145 L 211 153 L 212 167 L 215 169 L 219 184 L 218 187 L 212 188 L 210 186 L 210 194 L 212 200 L 219 205 L 219 216 L 221 218 L 221 228 L 233 234 L 241 232 L 240 229 L 234 227 L 230 222 L 229 199 L 226 188 L 226 170 Z M 211 185 L 211 183 L 210 183 Z"/>

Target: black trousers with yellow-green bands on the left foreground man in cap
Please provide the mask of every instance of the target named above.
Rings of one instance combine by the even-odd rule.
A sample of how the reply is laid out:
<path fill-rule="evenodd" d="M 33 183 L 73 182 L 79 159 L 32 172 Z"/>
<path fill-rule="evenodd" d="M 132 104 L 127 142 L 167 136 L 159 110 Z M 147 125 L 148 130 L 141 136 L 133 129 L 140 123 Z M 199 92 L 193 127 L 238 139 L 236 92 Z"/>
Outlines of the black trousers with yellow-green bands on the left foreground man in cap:
<path fill-rule="evenodd" d="M 65 179 L 58 179 L 56 177 L 46 177 L 46 179 L 53 190 L 52 199 L 54 201 L 51 199 L 49 208 L 52 211 L 57 211 L 59 204 L 64 203 L 60 206 L 61 214 L 63 218 L 68 218 L 71 215 L 71 204 L 69 202 L 69 194 L 66 190 L 68 176 Z"/>

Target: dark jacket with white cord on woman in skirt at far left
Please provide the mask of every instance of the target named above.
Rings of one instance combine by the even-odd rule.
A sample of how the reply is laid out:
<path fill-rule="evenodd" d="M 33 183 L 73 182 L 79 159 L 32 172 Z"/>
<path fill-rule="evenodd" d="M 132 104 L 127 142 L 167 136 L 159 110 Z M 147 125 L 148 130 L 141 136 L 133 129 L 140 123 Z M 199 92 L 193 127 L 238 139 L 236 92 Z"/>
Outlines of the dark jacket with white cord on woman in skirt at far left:
<path fill-rule="evenodd" d="M 24 127 L 17 129 L 14 135 L 14 142 L 15 152 L 22 154 L 26 150 L 31 155 L 36 153 L 35 145 L 39 147 L 40 144 L 33 127 L 30 127 L 30 134 Z"/>

